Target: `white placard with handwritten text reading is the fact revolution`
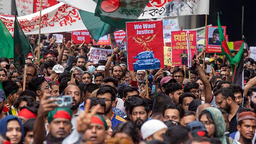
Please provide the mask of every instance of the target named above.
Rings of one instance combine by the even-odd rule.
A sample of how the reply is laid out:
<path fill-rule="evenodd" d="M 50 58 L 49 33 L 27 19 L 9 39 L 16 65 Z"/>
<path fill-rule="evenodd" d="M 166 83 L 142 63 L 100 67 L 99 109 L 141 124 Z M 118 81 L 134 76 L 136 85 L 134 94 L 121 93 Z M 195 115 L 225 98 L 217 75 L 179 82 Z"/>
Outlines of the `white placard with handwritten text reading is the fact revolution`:
<path fill-rule="evenodd" d="M 90 56 L 88 60 L 93 61 L 94 64 L 97 64 L 99 60 L 107 60 L 107 55 L 112 54 L 112 49 L 100 49 L 100 48 L 90 48 Z"/>

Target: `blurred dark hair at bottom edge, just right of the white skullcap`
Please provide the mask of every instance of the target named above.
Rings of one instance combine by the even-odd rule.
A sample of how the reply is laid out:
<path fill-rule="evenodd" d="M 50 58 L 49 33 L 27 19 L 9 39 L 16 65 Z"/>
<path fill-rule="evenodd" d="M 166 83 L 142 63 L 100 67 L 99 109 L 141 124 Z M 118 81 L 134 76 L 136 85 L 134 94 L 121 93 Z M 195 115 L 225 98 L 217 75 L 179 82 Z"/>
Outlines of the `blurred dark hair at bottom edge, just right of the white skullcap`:
<path fill-rule="evenodd" d="M 168 128 L 164 136 L 164 141 L 172 144 L 184 143 L 188 139 L 189 130 L 181 125 Z"/>

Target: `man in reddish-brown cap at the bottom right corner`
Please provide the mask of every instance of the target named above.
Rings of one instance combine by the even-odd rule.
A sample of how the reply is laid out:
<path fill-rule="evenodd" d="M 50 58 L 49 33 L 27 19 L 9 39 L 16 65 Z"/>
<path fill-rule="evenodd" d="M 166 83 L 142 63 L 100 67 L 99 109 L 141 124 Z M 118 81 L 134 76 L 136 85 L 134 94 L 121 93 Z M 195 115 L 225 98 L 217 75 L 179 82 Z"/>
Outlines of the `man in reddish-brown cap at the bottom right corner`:
<path fill-rule="evenodd" d="M 256 114 L 254 112 L 242 112 L 238 115 L 237 130 L 240 132 L 240 138 L 237 143 L 252 144 L 256 127 Z"/>

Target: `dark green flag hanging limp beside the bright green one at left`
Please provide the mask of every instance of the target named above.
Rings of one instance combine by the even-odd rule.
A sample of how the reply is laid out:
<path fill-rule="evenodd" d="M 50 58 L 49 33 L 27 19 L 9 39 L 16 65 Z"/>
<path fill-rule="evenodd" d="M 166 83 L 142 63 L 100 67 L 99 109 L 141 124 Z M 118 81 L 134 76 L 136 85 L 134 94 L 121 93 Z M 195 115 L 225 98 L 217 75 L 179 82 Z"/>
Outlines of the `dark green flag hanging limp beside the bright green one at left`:
<path fill-rule="evenodd" d="M 15 15 L 14 35 L 13 35 L 13 56 L 14 66 L 19 70 L 20 66 L 25 64 L 25 58 L 30 53 L 30 43 L 24 32 L 22 31 L 18 19 Z"/>

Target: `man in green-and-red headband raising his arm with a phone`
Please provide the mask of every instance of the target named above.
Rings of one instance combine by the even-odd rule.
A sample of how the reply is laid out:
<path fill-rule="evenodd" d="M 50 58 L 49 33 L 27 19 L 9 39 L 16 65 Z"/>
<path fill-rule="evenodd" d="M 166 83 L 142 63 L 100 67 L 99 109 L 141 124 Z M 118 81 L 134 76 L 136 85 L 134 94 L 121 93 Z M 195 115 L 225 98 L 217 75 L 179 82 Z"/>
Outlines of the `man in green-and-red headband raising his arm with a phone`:
<path fill-rule="evenodd" d="M 71 116 L 72 111 L 69 108 L 55 108 L 58 104 L 53 103 L 56 99 L 49 99 L 50 94 L 44 93 L 38 108 L 38 115 L 34 125 L 34 143 L 39 144 L 46 141 L 46 143 L 61 144 L 63 139 L 67 137 L 72 131 Z M 46 136 L 45 117 L 47 115 L 49 130 Z"/>

